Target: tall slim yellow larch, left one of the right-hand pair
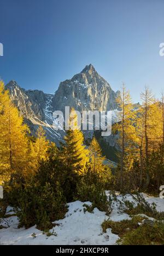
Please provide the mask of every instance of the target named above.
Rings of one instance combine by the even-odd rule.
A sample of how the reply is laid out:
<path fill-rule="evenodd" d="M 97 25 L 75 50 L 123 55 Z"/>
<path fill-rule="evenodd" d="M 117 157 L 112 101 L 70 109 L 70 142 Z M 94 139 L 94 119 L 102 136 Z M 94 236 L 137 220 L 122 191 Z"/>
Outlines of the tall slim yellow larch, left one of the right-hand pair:
<path fill-rule="evenodd" d="M 122 84 L 121 95 L 116 99 L 120 112 L 118 113 L 119 122 L 114 124 L 114 132 L 119 132 L 118 143 L 120 146 L 120 190 L 124 185 L 124 171 L 130 170 L 136 155 L 137 135 L 134 122 L 136 111 L 132 105 L 131 95 Z"/>

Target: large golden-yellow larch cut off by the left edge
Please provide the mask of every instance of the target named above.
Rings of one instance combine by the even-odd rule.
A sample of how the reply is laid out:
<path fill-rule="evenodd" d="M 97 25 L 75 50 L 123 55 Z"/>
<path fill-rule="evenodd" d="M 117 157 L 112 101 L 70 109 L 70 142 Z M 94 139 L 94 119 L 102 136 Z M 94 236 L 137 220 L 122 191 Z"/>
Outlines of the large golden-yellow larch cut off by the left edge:
<path fill-rule="evenodd" d="M 28 128 L 0 82 L 0 167 L 2 179 L 13 180 L 27 169 Z M 5 178 L 4 178 L 5 177 Z"/>

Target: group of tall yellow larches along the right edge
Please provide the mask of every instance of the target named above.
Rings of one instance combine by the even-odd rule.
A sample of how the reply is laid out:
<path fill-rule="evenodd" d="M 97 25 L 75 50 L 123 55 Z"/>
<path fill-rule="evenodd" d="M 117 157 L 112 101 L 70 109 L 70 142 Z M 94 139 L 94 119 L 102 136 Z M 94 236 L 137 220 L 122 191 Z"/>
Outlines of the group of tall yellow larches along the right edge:
<path fill-rule="evenodd" d="M 123 84 L 119 123 L 113 127 L 119 132 L 120 190 L 159 192 L 164 184 L 164 105 L 156 100 L 148 87 L 140 94 L 142 104 L 134 107 Z"/>

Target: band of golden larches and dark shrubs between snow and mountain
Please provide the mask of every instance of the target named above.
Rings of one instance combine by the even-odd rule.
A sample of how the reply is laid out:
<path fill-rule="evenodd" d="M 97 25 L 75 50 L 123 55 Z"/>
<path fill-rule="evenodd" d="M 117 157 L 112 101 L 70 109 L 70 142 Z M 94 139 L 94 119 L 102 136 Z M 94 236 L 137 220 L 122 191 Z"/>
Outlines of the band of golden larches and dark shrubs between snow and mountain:
<path fill-rule="evenodd" d="M 119 163 L 111 169 L 95 136 L 86 148 L 75 115 L 70 120 L 74 129 L 67 130 L 60 147 L 46 139 L 42 126 L 32 136 L 0 81 L 0 185 L 3 203 L 15 208 L 20 226 L 49 229 L 73 200 L 91 201 L 108 212 L 105 190 L 159 192 L 164 184 L 164 98 L 161 94 L 156 100 L 145 87 L 141 100 L 134 107 L 122 87 L 120 122 L 113 126 L 119 133 Z"/>

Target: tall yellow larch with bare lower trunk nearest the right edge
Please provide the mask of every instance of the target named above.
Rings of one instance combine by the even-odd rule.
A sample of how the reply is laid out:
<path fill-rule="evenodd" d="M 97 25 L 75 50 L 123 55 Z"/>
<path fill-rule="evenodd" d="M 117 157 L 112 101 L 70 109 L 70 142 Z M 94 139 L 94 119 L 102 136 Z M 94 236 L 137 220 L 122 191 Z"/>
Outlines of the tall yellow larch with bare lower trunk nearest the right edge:
<path fill-rule="evenodd" d="M 146 175 L 144 189 L 150 183 L 149 156 L 162 143 L 162 109 L 160 101 L 155 100 L 149 87 L 140 94 L 142 105 L 137 115 L 137 136 L 140 149 L 140 187 L 143 185 L 143 173 Z"/>

